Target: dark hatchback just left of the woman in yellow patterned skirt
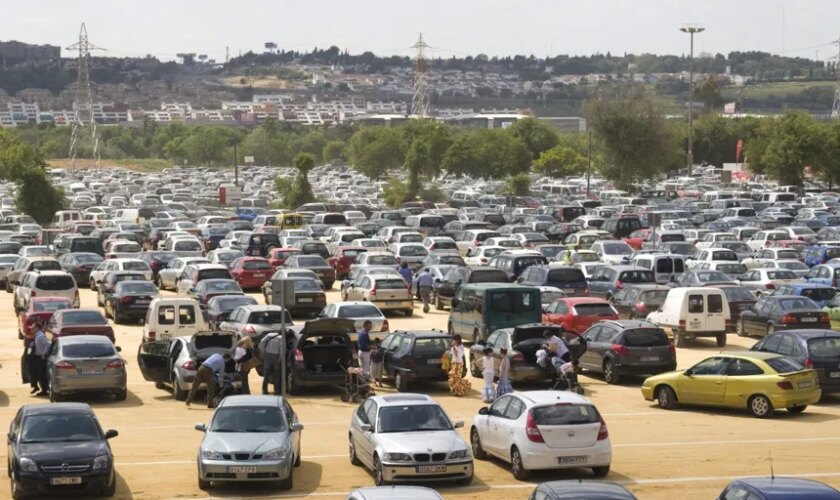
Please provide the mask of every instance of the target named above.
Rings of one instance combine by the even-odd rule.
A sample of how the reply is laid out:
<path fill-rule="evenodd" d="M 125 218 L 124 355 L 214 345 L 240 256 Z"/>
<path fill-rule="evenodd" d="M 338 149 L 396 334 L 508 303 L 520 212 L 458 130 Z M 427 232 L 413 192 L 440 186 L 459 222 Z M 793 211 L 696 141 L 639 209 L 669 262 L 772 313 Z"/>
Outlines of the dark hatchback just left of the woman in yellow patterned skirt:
<path fill-rule="evenodd" d="M 451 341 L 449 334 L 434 330 L 389 333 L 382 340 L 384 375 L 391 378 L 401 392 L 408 390 L 409 382 L 446 380 L 448 374 L 441 369 L 441 358 Z"/>

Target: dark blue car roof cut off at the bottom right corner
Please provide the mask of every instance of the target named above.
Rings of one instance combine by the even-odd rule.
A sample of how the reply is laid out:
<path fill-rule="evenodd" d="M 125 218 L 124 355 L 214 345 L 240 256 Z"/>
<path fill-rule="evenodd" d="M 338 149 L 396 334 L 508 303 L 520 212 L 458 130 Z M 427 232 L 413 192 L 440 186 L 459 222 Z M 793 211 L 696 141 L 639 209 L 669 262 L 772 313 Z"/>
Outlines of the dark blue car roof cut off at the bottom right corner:
<path fill-rule="evenodd" d="M 840 500 L 840 491 L 831 486 L 794 477 L 748 477 L 729 483 L 718 500 Z"/>

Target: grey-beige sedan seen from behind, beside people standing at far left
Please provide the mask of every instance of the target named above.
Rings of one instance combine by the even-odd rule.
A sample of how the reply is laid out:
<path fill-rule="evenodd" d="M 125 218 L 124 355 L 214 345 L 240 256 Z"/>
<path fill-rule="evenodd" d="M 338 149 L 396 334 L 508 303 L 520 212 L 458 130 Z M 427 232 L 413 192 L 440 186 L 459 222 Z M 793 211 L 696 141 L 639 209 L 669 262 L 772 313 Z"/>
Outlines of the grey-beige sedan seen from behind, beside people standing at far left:
<path fill-rule="evenodd" d="M 56 338 L 47 356 L 50 402 L 82 392 L 113 394 L 125 401 L 125 361 L 119 350 L 102 335 Z"/>

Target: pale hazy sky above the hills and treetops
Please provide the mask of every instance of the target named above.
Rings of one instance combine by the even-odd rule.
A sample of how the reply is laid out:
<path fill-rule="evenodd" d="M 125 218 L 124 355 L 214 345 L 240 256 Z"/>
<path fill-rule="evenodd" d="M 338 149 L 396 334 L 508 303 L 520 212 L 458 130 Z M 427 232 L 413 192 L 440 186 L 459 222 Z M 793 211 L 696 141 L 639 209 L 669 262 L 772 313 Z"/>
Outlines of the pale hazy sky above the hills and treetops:
<path fill-rule="evenodd" d="M 700 23 L 696 52 L 762 50 L 826 59 L 840 36 L 840 0 L 33 0 L 11 2 L 0 40 L 67 47 L 87 23 L 112 56 L 178 52 L 224 60 L 240 51 L 336 45 L 411 53 L 422 31 L 433 57 L 688 52 L 683 23 Z M 11 6 L 13 5 L 13 7 Z M 783 22 L 784 19 L 784 22 Z M 784 26 L 784 29 L 783 29 Z"/>

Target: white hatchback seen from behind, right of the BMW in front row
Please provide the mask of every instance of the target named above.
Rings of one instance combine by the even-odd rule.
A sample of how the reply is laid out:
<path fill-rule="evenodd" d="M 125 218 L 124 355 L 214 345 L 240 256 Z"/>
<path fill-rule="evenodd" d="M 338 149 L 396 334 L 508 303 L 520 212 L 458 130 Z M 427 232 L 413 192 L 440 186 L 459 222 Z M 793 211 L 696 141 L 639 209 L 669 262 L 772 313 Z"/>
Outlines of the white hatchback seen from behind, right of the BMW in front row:
<path fill-rule="evenodd" d="M 470 429 L 473 456 L 510 463 L 513 477 L 532 470 L 591 468 L 610 472 L 607 424 L 591 401 L 567 391 L 505 394 L 478 411 Z"/>

